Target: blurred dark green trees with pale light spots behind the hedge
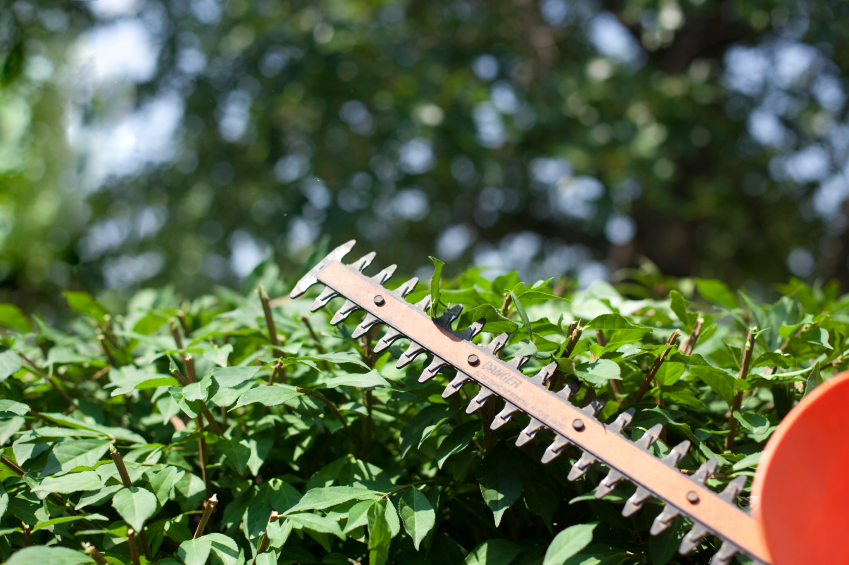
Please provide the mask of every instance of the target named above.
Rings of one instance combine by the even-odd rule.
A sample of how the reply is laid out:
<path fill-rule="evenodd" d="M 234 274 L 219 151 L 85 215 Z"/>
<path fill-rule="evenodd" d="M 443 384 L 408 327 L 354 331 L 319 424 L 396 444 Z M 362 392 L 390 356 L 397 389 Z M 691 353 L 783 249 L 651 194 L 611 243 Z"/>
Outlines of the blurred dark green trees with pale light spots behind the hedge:
<path fill-rule="evenodd" d="M 0 298 L 382 264 L 846 290 L 849 4 L 6 0 Z"/>

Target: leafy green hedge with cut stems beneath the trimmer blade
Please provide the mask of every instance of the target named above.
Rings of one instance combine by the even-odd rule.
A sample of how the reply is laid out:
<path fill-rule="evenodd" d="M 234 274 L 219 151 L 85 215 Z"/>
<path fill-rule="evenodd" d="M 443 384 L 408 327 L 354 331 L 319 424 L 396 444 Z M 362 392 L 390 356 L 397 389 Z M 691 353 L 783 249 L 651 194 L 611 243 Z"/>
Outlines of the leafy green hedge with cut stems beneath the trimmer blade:
<path fill-rule="evenodd" d="M 610 394 L 601 420 L 636 408 L 633 439 L 664 424 L 656 455 L 689 440 L 682 469 L 716 457 L 714 489 L 752 475 L 792 405 L 846 365 L 849 302 L 833 286 L 794 281 L 762 304 L 646 272 L 618 290 L 475 270 L 435 280 L 408 300 L 463 304 L 459 328 L 487 318 L 481 343 L 510 332 L 503 356 L 530 355 L 526 374 L 560 359 L 554 387 Z M 443 399 L 453 375 L 419 384 L 424 356 L 395 368 L 405 340 L 375 355 L 377 332 L 351 338 L 361 314 L 330 326 L 341 299 L 311 314 L 317 291 L 290 300 L 289 286 L 265 264 L 244 293 L 145 289 L 120 314 L 67 292 L 66 324 L 0 306 L 0 557 L 663 565 L 716 551 L 709 536 L 679 556 L 684 519 L 649 536 L 658 503 L 623 518 L 632 486 L 595 500 L 602 466 L 568 482 L 579 452 L 542 465 L 550 435 L 514 446 L 526 418 L 490 432 L 495 402 L 463 410 L 474 385 Z"/>

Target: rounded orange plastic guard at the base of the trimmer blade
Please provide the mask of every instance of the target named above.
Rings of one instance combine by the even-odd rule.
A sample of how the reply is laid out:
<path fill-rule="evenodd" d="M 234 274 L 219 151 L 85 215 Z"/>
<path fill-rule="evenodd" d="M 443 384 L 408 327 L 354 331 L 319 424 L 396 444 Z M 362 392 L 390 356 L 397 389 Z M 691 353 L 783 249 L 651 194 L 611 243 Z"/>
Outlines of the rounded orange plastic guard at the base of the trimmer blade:
<path fill-rule="evenodd" d="M 774 565 L 849 564 L 849 371 L 790 411 L 767 443 L 752 499 Z"/>

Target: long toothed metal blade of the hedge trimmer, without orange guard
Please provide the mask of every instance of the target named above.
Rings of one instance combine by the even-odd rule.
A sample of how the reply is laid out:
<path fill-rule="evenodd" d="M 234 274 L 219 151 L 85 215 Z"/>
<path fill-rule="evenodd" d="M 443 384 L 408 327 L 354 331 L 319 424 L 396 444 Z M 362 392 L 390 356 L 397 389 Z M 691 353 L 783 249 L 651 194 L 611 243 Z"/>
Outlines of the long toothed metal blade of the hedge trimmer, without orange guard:
<path fill-rule="evenodd" d="M 737 552 L 749 555 L 756 562 L 770 563 L 759 524 L 733 504 L 745 484 L 744 477 L 742 482 L 730 483 L 721 494 L 711 491 L 704 483 L 716 468 L 715 461 L 702 465 L 692 478 L 675 467 L 686 453 L 689 442 L 676 446 L 664 460 L 658 459 L 648 448 L 657 439 L 659 425 L 632 442 L 621 434 L 622 428 L 630 422 L 632 411 L 620 414 L 610 425 L 599 422 L 595 415 L 604 404 L 603 398 L 590 397 L 583 408 L 573 405 L 569 397 L 580 383 L 573 383 L 557 393 L 548 390 L 543 383 L 551 376 L 552 366 L 544 368 L 533 379 L 526 377 L 519 368 L 527 359 L 505 363 L 495 356 L 497 349 L 506 343 L 506 335 L 498 336 L 487 347 L 475 345 L 469 338 L 480 331 L 481 322 L 476 322 L 479 326 L 472 331 L 453 331 L 450 323 L 459 316 L 459 309 L 452 309 L 441 319 L 431 319 L 425 314 L 427 300 L 414 305 L 404 299 L 412 290 L 413 281 L 410 281 L 413 285 L 408 283 L 401 292 L 390 292 L 374 278 L 362 275 L 359 265 L 346 266 L 339 261 L 349 249 L 346 244 L 335 250 L 320 263 L 320 268 L 317 266 L 299 282 L 293 294 L 301 294 L 315 282 L 321 282 L 334 294 L 346 298 L 334 322 L 338 323 L 353 311 L 365 310 L 370 324 L 389 326 L 387 337 L 410 339 L 410 347 L 399 359 L 399 366 L 413 362 L 421 353 L 430 352 L 433 362 L 423 372 L 424 380 L 435 376 L 441 368 L 453 366 L 458 371 L 457 377 L 448 385 L 444 396 L 457 392 L 467 382 L 476 382 L 481 387 L 469 410 L 483 406 L 490 398 L 501 397 L 506 403 L 505 410 L 493 421 L 493 429 L 517 412 L 528 415 L 531 423 L 520 434 L 517 445 L 533 440 L 541 430 L 553 431 L 555 440 L 546 450 L 543 462 L 557 457 L 569 444 L 583 450 L 583 456 L 569 474 L 570 480 L 581 476 L 592 464 L 605 464 L 610 473 L 596 490 L 597 497 L 612 491 L 623 480 L 631 481 L 638 490 L 623 510 L 626 515 L 638 511 L 651 497 L 664 502 L 666 507 L 655 520 L 652 534 L 662 532 L 678 515 L 688 517 L 695 526 L 682 540 L 682 553 L 698 545 L 704 535 L 713 534 L 724 543 L 712 564 L 729 563 Z"/>

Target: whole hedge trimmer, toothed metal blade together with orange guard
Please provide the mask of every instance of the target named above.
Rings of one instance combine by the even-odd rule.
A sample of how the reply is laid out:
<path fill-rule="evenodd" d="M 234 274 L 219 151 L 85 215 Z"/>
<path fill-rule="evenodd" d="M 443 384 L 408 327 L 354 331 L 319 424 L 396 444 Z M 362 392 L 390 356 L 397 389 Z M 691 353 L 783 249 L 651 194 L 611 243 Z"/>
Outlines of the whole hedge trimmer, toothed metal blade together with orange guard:
<path fill-rule="evenodd" d="M 504 362 L 497 356 L 508 341 L 507 334 L 495 337 L 485 346 L 474 344 L 472 338 L 481 332 L 485 320 L 463 331 L 453 330 L 451 324 L 459 317 L 460 306 L 432 319 L 426 313 L 429 297 L 416 304 L 405 300 L 416 286 L 415 278 L 389 291 L 382 285 L 393 274 L 394 266 L 373 277 L 362 274 L 372 262 L 373 253 L 351 265 L 342 264 L 342 257 L 353 245 L 350 241 L 333 250 L 298 282 L 292 298 L 322 283 L 326 288 L 315 300 L 313 310 L 337 296 L 346 299 L 332 324 L 364 310 L 366 314 L 354 331 L 355 338 L 379 324 L 388 327 L 375 344 L 376 353 L 398 339 L 410 341 L 398 360 L 399 368 L 430 353 L 433 359 L 422 372 L 420 382 L 444 369 L 455 369 L 457 375 L 443 396 L 455 394 L 465 384 L 477 384 L 480 390 L 471 400 L 468 413 L 501 398 L 504 408 L 492 420 L 493 430 L 518 413 L 530 418 L 517 445 L 527 444 L 544 430 L 554 432 L 543 463 L 563 454 L 568 446 L 579 448 L 582 455 L 572 466 L 569 480 L 581 477 L 593 465 L 605 465 L 609 472 L 596 488 L 596 498 L 605 497 L 623 481 L 632 482 L 637 488 L 625 503 L 624 516 L 636 513 L 652 498 L 660 500 L 664 507 L 652 524 L 652 535 L 669 528 L 678 516 L 685 516 L 693 527 L 683 537 L 679 551 L 689 553 L 705 536 L 715 535 L 722 545 L 713 556 L 712 565 L 727 565 L 738 553 L 762 565 L 849 563 L 849 434 L 840 433 L 847 429 L 844 407 L 849 403 L 849 373 L 832 378 L 806 396 L 773 434 L 755 474 L 750 514 L 736 504 L 746 486 L 744 475 L 731 480 L 722 492 L 714 492 L 706 481 L 717 469 L 716 459 L 707 460 L 692 474 L 682 473 L 677 465 L 686 455 L 689 441 L 673 447 L 663 459 L 655 457 L 649 448 L 660 436 L 660 424 L 631 441 L 623 430 L 635 414 L 633 408 L 609 424 L 602 423 L 597 416 L 604 407 L 604 395 L 589 395 L 591 400 L 577 407 L 570 398 L 579 391 L 580 381 L 567 383 L 557 392 L 549 390 L 546 385 L 555 374 L 556 363 L 543 367 L 532 378 L 526 377 L 521 368 L 527 357 Z"/>

